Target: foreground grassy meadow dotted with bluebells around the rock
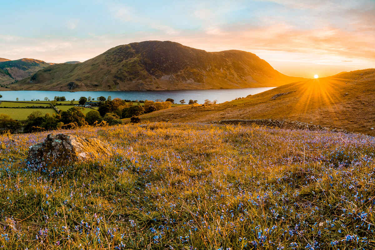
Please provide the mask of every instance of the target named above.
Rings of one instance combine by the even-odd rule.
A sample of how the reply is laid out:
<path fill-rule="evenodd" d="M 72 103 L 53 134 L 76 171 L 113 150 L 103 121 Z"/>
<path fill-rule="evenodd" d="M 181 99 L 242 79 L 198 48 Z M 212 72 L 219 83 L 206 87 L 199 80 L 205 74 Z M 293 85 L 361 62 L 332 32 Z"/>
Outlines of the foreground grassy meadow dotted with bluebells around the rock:
<path fill-rule="evenodd" d="M 60 132 L 114 156 L 37 171 L 24 159 L 49 132 L 2 135 L 1 249 L 375 247 L 374 137 L 200 123 Z"/>

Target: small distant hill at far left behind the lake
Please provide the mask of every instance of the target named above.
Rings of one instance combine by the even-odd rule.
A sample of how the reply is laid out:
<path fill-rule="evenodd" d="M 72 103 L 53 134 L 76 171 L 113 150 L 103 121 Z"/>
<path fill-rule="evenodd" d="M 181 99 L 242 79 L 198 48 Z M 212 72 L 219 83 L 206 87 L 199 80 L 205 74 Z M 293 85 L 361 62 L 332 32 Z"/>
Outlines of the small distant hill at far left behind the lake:
<path fill-rule="evenodd" d="M 5 85 L 33 75 L 40 69 L 51 66 L 45 61 L 23 58 L 0 62 L 0 84 Z"/>

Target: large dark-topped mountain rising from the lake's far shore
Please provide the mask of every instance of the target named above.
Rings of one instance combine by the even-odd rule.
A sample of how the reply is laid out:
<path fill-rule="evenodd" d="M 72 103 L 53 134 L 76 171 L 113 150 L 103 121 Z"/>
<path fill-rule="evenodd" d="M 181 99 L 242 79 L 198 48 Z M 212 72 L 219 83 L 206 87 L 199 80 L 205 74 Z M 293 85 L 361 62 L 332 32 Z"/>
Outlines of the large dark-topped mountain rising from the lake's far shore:
<path fill-rule="evenodd" d="M 186 90 L 270 87 L 303 78 L 283 75 L 250 52 L 207 52 L 170 41 L 129 43 L 77 64 L 55 64 L 16 90 Z"/>

